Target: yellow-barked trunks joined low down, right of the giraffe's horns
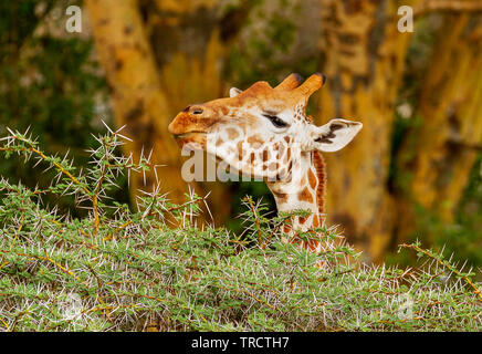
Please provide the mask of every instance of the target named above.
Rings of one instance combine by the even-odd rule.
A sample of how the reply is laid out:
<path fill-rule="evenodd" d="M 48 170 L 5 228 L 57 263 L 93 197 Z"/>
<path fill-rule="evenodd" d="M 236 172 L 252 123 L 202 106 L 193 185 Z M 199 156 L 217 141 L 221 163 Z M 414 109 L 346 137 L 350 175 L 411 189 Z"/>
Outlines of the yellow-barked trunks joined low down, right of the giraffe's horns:
<path fill-rule="evenodd" d="M 328 221 L 340 225 L 375 262 L 383 260 L 394 237 L 404 241 L 413 230 L 415 204 L 452 220 L 482 137 L 481 24 L 469 13 L 446 14 L 421 84 L 418 114 L 423 121 L 409 133 L 398 157 L 412 179 L 407 194 L 392 194 L 388 170 L 395 103 L 411 39 L 397 29 L 402 4 L 427 9 L 422 0 L 322 0 L 328 77 L 319 98 L 322 123 L 333 117 L 364 123 L 350 145 L 325 154 Z"/>

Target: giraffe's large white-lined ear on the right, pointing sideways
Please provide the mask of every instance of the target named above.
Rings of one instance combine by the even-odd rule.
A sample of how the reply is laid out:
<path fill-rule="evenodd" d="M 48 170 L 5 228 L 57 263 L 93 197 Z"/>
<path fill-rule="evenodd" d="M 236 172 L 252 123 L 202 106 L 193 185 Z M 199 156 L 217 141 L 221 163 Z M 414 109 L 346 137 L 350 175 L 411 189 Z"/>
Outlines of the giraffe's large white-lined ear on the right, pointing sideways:
<path fill-rule="evenodd" d="M 332 119 L 316 128 L 314 146 L 322 152 L 337 152 L 352 142 L 362 127 L 359 122 Z"/>

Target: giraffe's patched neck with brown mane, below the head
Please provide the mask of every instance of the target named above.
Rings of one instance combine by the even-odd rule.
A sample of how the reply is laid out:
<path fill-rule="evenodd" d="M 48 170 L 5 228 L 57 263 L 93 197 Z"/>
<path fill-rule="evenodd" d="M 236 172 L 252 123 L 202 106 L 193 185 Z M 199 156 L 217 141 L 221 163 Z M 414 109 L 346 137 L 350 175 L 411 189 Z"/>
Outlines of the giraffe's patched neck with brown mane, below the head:
<path fill-rule="evenodd" d="M 274 196 L 279 211 L 308 210 L 308 217 L 295 216 L 284 227 L 284 231 L 293 235 L 294 230 L 305 231 L 322 226 L 324 221 L 325 164 L 318 152 L 303 153 L 300 170 L 289 181 L 268 183 Z"/>

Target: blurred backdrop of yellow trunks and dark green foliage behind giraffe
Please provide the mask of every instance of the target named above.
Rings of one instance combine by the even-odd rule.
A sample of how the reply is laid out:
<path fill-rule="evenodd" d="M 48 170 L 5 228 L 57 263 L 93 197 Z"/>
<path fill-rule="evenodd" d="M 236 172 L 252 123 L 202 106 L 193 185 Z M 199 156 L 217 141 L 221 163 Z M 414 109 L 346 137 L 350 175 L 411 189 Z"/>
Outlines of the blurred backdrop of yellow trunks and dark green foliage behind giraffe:
<path fill-rule="evenodd" d="M 70 6 L 80 32 L 66 30 Z M 412 7 L 413 32 L 398 31 L 400 6 Z M 30 126 L 46 152 L 82 167 L 101 119 L 126 124 L 134 142 L 119 154 L 153 149 L 163 190 L 182 201 L 167 132 L 179 111 L 231 86 L 323 72 L 308 114 L 364 123 L 325 154 L 329 223 L 369 261 L 408 264 L 397 246 L 419 239 L 482 266 L 481 0 L 15 0 L 0 15 L 1 135 Z M 32 187 L 52 178 L 18 159 L 0 160 L 0 175 Z M 113 197 L 133 202 L 154 183 L 133 176 L 130 194 L 124 179 Z M 210 192 L 216 226 L 233 232 L 244 195 L 275 210 L 262 183 L 191 187 Z M 82 214 L 67 197 L 49 202 Z"/>

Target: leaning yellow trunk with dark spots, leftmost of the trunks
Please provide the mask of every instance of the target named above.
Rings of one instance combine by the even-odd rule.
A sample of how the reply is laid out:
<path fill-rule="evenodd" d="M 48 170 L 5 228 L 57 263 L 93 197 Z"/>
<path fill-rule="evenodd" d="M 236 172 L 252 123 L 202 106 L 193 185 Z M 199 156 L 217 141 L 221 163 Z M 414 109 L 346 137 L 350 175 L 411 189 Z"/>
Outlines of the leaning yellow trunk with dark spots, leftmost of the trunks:
<path fill-rule="evenodd" d="M 144 150 L 153 150 L 151 160 L 163 165 L 157 173 L 161 190 L 172 201 L 184 200 L 186 186 L 180 183 L 179 149 L 167 132 L 171 119 L 166 94 L 161 90 L 156 61 L 147 41 L 136 0 L 86 0 L 93 35 L 101 63 L 112 88 L 112 105 L 118 127 L 133 139 L 124 146 L 138 160 Z M 130 191 L 150 191 L 156 184 L 154 170 L 130 176 Z M 134 201 L 134 200 L 133 200 Z"/>

